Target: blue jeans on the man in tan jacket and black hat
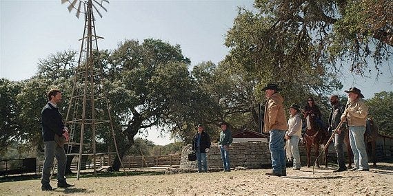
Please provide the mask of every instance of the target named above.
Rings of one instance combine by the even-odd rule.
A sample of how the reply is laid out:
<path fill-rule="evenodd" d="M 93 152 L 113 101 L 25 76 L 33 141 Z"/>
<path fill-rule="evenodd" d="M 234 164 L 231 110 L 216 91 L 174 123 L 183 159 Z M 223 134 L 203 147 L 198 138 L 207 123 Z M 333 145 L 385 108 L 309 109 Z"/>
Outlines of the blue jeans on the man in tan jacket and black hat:
<path fill-rule="evenodd" d="M 284 150 L 285 131 L 273 129 L 270 131 L 269 150 L 272 159 L 273 173 L 286 175 L 287 162 Z"/>

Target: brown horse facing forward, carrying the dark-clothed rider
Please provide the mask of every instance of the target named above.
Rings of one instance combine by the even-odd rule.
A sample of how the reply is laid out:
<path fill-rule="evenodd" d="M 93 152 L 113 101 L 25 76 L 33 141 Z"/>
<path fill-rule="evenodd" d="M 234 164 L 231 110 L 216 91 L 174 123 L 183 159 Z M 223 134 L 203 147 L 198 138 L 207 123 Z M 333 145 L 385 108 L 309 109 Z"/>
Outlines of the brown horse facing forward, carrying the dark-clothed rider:
<path fill-rule="evenodd" d="M 308 115 L 305 120 L 307 122 L 307 127 L 305 133 L 303 134 L 303 140 L 305 141 L 305 148 L 307 149 L 307 166 L 311 166 L 311 148 L 314 146 L 315 157 L 319 156 L 319 145 L 326 145 L 329 140 L 328 129 L 325 127 L 321 128 L 316 124 L 314 119 L 316 116 Z M 325 149 L 325 166 L 328 168 L 328 150 Z M 316 160 L 316 166 L 319 168 L 319 161 Z"/>

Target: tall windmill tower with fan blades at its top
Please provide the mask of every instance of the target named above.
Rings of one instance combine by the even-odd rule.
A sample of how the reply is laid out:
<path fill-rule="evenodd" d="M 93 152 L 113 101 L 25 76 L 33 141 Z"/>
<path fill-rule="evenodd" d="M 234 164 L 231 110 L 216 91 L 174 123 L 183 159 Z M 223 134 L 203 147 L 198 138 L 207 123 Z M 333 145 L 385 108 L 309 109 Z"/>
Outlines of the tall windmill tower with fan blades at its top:
<path fill-rule="evenodd" d="M 110 130 L 108 135 L 112 134 L 114 148 L 116 149 L 117 157 L 121 166 L 124 166 L 120 160 L 119 150 L 116 144 L 114 134 L 114 127 L 110 115 L 110 107 L 106 98 L 106 91 L 103 84 L 103 69 L 99 66 L 98 59 L 98 39 L 103 37 L 97 36 L 95 30 L 94 12 L 97 12 L 102 18 L 99 8 L 106 11 L 103 3 L 109 3 L 108 0 L 61 0 L 61 3 L 70 3 L 68 11 L 77 10 L 77 18 L 80 14 L 84 14 L 85 27 L 83 30 L 83 37 L 81 39 L 81 51 L 79 52 L 78 66 L 74 75 L 74 84 L 72 87 L 72 96 L 70 97 L 70 104 L 66 116 L 66 125 L 70 129 L 71 141 L 68 145 L 68 155 L 77 155 L 78 160 L 78 173 L 77 179 L 81 171 L 82 155 L 92 155 L 94 163 L 94 175 L 97 174 L 96 170 L 96 142 L 102 140 L 103 130 Z M 78 4 L 78 6 L 77 6 Z M 97 8 L 99 7 L 99 8 Z M 98 107 L 97 107 L 98 106 Z M 103 109 L 105 108 L 105 109 Z M 104 131 L 105 132 L 105 131 Z M 79 143 L 72 142 L 79 140 Z M 79 153 L 70 153 L 72 144 L 79 145 Z M 90 151 L 85 149 L 88 144 Z"/>

